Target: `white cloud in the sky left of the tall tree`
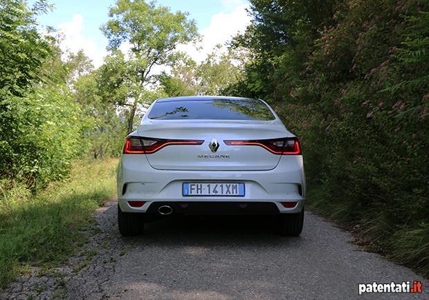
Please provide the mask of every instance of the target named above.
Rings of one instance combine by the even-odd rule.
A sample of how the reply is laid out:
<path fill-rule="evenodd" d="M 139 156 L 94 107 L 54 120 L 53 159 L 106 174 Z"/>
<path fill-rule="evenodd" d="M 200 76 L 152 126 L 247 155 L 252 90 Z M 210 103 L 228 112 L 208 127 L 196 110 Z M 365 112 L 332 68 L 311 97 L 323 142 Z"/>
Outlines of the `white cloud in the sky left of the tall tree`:
<path fill-rule="evenodd" d="M 71 21 L 59 24 L 58 29 L 64 35 L 64 40 L 60 45 L 64 52 L 77 53 L 82 49 L 85 55 L 92 59 L 95 68 L 101 66 L 107 51 L 97 45 L 93 39 L 84 36 L 84 18 L 82 15 L 73 15 Z"/>

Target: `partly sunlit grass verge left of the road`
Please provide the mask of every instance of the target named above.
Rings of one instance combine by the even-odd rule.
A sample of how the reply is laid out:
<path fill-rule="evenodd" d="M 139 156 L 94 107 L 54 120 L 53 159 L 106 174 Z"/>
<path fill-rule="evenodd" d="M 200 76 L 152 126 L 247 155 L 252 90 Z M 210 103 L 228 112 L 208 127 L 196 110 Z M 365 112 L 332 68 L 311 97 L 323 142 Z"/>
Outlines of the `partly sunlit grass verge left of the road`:
<path fill-rule="evenodd" d="M 80 229 L 114 194 L 117 162 L 75 162 L 68 180 L 54 182 L 35 196 L 19 186 L 1 189 L 1 288 L 30 267 L 61 263 L 84 243 Z"/>

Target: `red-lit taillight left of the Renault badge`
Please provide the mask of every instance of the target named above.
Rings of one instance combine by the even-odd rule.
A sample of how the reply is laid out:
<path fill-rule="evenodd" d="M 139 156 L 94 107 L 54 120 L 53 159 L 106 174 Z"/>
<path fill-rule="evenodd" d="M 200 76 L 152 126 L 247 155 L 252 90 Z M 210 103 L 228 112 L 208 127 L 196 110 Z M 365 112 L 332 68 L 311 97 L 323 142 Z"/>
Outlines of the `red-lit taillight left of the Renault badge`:
<path fill-rule="evenodd" d="M 167 140 L 163 138 L 142 138 L 129 136 L 125 142 L 123 153 L 150 154 L 171 144 L 203 144 L 204 140 Z"/>

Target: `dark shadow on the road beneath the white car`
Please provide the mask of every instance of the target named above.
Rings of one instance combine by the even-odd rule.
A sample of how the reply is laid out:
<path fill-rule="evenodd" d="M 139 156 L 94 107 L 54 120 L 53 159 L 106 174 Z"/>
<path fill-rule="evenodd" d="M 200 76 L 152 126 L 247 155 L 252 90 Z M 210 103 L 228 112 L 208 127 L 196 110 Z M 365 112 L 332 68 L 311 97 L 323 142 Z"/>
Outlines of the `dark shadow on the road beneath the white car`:
<path fill-rule="evenodd" d="M 157 245 L 279 245 L 298 247 L 302 237 L 275 233 L 273 216 L 171 216 L 145 224 L 145 234 L 133 242 Z"/>

